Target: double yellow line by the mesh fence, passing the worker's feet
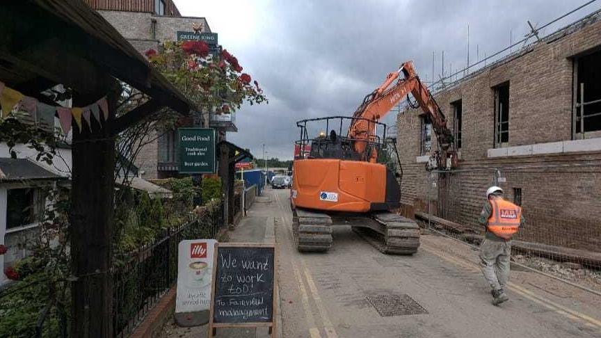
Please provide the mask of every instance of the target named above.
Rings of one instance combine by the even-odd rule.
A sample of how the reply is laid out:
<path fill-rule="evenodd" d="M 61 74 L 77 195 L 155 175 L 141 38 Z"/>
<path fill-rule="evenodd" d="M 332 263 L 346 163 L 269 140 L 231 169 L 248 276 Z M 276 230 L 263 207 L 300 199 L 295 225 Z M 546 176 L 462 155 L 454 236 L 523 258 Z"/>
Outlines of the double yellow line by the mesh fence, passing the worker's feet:
<path fill-rule="evenodd" d="M 480 269 L 478 268 L 478 265 L 472 261 L 449 257 L 447 255 L 444 255 L 444 252 L 436 250 L 436 249 L 432 248 L 431 246 L 428 246 L 427 244 L 424 246 L 424 244 L 425 243 L 422 243 L 422 246 L 420 247 L 421 250 L 427 251 L 427 252 L 431 253 L 432 255 L 438 256 L 441 259 L 444 259 L 445 261 L 449 261 L 449 262 L 456 264 L 457 266 L 461 266 L 462 268 L 465 268 L 467 270 L 474 271 L 474 272 L 480 271 Z M 544 296 L 537 295 L 536 293 L 533 293 L 532 291 L 529 291 L 527 289 L 524 289 L 523 287 L 520 287 L 518 284 L 515 284 L 513 282 L 508 282 L 507 288 L 515 293 L 518 293 L 518 295 L 520 295 L 524 298 L 527 298 L 527 299 L 533 301 L 534 303 L 537 303 L 538 305 L 546 307 L 547 309 L 550 309 L 551 311 L 556 312 L 557 314 L 566 316 L 568 319 L 571 319 L 572 321 L 578 321 L 580 323 L 583 323 L 584 325 L 588 326 L 589 328 L 601 329 L 601 321 L 599 321 L 598 319 L 594 319 L 593 317 L 583 314 L 581 312 L 577 312 L 574 309 L 570 309 L 563 305 L 557 304 L 557 303 L 553 302 L 552 300 L 545 298 Z"/>

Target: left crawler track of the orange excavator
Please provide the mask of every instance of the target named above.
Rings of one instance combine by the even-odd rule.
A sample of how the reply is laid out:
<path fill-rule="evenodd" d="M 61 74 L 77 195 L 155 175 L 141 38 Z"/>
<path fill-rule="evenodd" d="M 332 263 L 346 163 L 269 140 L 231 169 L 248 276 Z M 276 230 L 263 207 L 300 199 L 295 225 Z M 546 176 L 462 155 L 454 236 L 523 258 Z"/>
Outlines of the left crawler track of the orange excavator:
<path fill-rule="evenodd" d="M 325 252 L 332 248 L 332 218 L 327 214 L 294 209 L 292 230 L 299 252 Z"/>

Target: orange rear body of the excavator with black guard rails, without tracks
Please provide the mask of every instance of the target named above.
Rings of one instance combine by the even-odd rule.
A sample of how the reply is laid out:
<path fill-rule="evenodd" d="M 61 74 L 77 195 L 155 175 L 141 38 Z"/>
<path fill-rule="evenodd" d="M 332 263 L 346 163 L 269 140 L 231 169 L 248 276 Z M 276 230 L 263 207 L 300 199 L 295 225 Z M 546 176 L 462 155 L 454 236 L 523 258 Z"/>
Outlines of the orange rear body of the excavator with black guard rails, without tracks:
<path fill-rule="evenodd" d="M 361 138 L 343 134 L 358 122 L 374 132 Z M 333 116 L 300 120 L 296 125 L 300 128 L 296 148 L 309 149 L 295 156 L 294 207 L 359 213 L 399 207 L 399 184 L 387 168 L 385 124 Z"/>

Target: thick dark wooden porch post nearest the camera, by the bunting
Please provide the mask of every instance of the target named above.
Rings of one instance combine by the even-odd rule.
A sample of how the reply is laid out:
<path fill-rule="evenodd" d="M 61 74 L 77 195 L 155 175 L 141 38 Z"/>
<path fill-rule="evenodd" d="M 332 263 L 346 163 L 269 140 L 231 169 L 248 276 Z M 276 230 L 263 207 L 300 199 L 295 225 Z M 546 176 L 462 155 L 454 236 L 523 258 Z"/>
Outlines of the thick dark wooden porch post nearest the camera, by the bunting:
<path fill-rule="evenodd" d="M 118 93 L 109 92 L 109 120 Z M 93 120 L 93 119 L 92 119 Z M 71 188 L 71 337 L 113 337 L 113 188 L 115 138 L 104 122 L 73 129 Z"/>

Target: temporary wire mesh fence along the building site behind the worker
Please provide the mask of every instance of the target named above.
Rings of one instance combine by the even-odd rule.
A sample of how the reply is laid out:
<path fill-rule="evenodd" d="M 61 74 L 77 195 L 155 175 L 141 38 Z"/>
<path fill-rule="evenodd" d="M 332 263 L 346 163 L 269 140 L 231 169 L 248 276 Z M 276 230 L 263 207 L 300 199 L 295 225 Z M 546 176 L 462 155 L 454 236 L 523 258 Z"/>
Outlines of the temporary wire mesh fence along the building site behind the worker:
<path fill-rule="evenodd" d="M 601 294 L 601 164 L 432 170 L 427 209 L 416 218 L 432 232 L 479 246 L 486 189 L 522 206 L 525 223 L 513 238 L 515 264 Z"/>

